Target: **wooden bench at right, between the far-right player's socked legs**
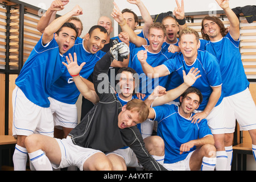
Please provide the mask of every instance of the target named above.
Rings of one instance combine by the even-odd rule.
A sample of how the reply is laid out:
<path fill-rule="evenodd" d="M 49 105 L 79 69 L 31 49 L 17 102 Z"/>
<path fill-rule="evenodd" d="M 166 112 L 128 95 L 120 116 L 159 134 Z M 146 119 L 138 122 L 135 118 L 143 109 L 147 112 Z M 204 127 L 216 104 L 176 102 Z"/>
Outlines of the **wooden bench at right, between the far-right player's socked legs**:
<path fill-rule="evenodd" d="M 251 143 L 240 143 L 233 146 L 232 171 L 246 171 L 246 155 L 253 155 Z"/>

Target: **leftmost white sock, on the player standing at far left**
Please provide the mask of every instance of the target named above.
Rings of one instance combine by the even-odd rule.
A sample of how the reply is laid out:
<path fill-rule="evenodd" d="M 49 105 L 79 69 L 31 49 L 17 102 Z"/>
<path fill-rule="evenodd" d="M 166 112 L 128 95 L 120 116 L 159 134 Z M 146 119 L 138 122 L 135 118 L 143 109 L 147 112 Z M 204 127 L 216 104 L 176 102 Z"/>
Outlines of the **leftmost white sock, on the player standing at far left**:
<path fill-rule="evenodd" d="M 24 147 L 15 145 L 13 154 L 14 171 L 26 171 L 27 165 L 27 149 Z"/>

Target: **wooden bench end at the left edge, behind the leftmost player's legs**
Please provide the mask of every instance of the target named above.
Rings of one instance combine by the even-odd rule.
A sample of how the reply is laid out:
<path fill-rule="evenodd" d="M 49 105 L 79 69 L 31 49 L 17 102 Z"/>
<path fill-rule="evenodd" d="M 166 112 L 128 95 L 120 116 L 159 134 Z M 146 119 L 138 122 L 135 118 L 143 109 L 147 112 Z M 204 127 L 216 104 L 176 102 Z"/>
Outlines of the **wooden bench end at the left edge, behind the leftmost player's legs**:
<path fill-rule="evenodd" d="M 10 135 L 0 135 L 0 170 L 2 168 L 2 159 L 3 159 L 3 154 L 2 151 L 5 149 L 14 149 L 15 144 L 17 140 Z M 11 152 L 9 152 L 9 165 L 10 165 L 10 160 L 12 160 L 13 156 L 11 156 Z"/>

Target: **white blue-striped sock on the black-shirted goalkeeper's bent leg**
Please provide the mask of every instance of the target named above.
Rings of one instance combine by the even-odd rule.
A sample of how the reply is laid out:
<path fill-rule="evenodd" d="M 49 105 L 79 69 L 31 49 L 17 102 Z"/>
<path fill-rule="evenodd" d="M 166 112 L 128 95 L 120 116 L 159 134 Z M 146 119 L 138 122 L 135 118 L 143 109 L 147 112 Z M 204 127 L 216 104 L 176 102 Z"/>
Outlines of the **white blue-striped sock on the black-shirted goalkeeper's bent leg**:
<path fill-rule="evenodd" d="M 30 161 L 35 167 L 36 171 L 52 171 L 51 162 L 42 150 L 28 153 L 28 156 L 30 156 Z"/>

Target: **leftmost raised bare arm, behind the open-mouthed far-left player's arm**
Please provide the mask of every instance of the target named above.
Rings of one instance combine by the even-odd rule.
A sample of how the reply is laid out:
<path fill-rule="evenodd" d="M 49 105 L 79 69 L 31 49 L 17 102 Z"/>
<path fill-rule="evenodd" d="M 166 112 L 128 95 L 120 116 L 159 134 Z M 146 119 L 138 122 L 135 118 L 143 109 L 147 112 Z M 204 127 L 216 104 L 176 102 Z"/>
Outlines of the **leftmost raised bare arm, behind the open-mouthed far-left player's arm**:
<path fill-rule="evenodd" d="M 56 16 L 57 11 L 63 10 L 64 6 L 67 5 L 69 0 L 55 0 L 51 3 L 51 6 L 40 18 L 36 29 L 43 34 L 44 29 L 51 23 Z"/>

